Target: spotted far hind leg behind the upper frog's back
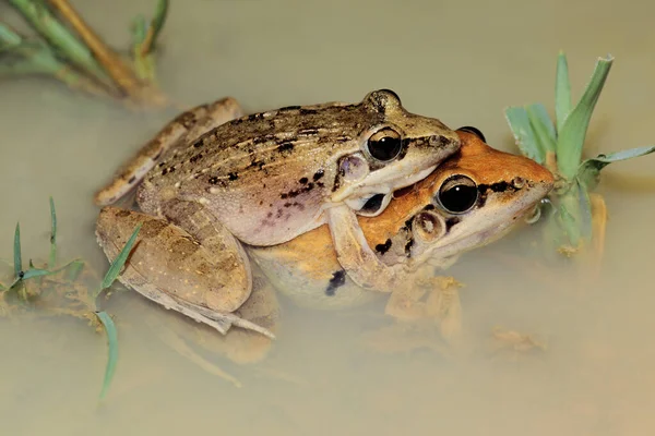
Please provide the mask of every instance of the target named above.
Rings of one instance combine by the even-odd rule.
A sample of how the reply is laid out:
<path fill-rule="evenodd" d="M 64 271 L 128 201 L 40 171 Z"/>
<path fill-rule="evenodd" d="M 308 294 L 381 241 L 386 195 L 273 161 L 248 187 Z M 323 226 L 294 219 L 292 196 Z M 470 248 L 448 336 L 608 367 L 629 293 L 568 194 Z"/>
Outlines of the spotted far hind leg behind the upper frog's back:
<path fill-rule="evenodd" d="M 117 202 L 136 186 L 169 150 L 183 146 L 202 133 L 241 116 L 239 104 L 231 97 L 210 105 L 200 105 L 179 114 L 141 148 L 111 182 L 96 193 L 95 203 L 106 206 Z"/>

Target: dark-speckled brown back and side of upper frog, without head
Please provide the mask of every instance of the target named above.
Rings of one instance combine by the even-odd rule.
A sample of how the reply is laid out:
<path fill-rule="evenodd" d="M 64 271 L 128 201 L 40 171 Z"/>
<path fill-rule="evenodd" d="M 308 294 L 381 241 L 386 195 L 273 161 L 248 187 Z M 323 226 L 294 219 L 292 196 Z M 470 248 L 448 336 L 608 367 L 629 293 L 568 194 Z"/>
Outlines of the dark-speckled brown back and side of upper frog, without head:
<path fill-rule="evenodd" d="M 239 239 L 288 240 L 322 223 L 336 160 L 358 148 L 359 131 L 378 121 L 371 116 L 367 122 L 361 105 L 334 102 L 236 119 L 162 161 L 140 189 L 140 205 L 156 213 L 158 193 L 175 191 L 207 205 Z"/>

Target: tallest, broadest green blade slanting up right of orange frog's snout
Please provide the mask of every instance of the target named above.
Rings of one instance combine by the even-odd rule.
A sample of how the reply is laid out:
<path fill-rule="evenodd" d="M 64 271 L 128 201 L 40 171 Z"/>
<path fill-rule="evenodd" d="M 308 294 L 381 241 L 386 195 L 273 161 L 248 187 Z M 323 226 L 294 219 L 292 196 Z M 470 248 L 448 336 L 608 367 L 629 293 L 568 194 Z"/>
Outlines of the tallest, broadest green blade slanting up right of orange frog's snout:
<path fill-rule="evenodd" d="M 598 59 L 594 74 L 582 98 L 569 117 L 567 117 L 559 132 L 557 165 L 559 172 L 568 180 L 572 180 L 577 172 L 590 120 L 592 119 L 594 107 L 598 101 L 612 62 L 614 58 L 611 56 L 608 56 L 606 59 Z"/>

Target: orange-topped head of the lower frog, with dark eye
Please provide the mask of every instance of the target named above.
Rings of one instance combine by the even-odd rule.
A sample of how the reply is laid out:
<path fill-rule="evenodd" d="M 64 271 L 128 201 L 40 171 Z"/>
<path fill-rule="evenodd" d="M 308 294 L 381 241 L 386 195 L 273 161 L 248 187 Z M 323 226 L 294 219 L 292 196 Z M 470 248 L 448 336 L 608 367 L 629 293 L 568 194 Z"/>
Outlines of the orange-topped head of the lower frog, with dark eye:
<path fill-rule="evenodd" d="M 496 241 L 552 189 L 552 174 L 535 161 L 489 147 L 475 129 L 457 133 L 460 152 L 417 184 L 425 206 L 407 221 L 406 245 L 417 263 L 446 266 Z"/>

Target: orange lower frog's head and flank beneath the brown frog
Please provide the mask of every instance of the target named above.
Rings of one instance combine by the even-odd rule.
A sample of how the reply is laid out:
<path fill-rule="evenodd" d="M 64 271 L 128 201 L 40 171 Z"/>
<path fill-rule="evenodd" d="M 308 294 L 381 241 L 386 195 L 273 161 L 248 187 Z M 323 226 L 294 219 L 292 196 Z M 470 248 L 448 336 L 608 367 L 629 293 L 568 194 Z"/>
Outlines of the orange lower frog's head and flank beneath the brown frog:
<path fill-rule="evenodd" d="M 462 138 L 457 154 L 412 189 L 396 193 L 381 215 L 358 218 L 378 257 L 402 267 L 396 269 L 405 276 L 401 280 L 405 286 L 396 290 L 401 294 L 416 289 L 416 278 L 432 277 L 434 268 L 500 238 L 552 187 L 552 174 L 533 160 L 496 150 L 471 133 L 457 133 Z M 450 214 L 437 199 L 443 183 L 455 174 L 477 184 L 477 203 L 465 214 Z M 426 213 L 437 218 L 433 226 L 421 226 Z M 275 288 L 300 305 L 342 308 L 379 295 L 344 274 L 326 226 L 285 244 L 247 251 Z M 401 300 L 413 298 L 392 298 L 386 312 L 403 317 Z"/>

